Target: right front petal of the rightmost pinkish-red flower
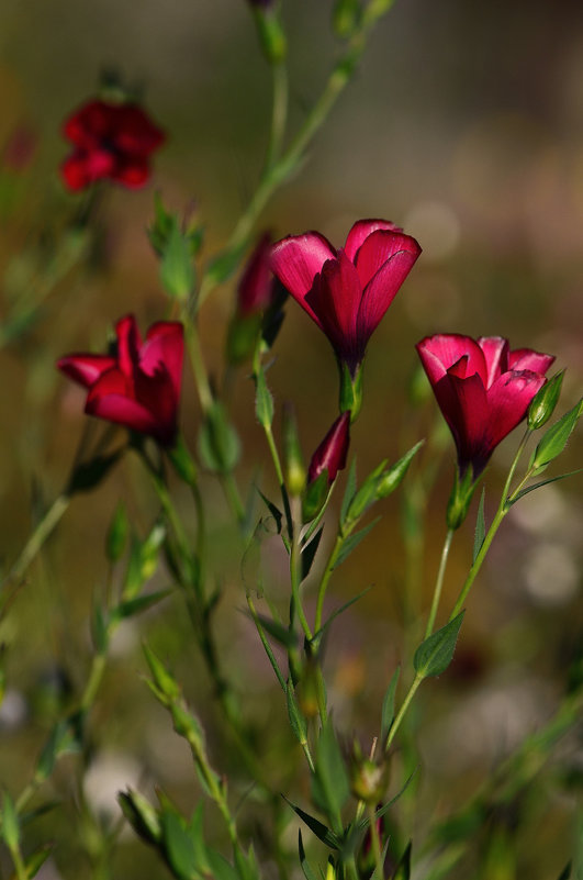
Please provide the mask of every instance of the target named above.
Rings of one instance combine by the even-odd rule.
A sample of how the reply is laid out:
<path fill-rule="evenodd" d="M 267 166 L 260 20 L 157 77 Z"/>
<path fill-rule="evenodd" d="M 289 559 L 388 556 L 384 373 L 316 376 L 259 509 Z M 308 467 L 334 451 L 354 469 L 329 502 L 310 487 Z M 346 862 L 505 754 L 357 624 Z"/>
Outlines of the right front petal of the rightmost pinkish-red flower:
<path fill-rule="evenodd" d="M 498 377 L 487 391 L 492 448 L 523 421 L 545 377 L 530 370 L 511 370 Z"/>

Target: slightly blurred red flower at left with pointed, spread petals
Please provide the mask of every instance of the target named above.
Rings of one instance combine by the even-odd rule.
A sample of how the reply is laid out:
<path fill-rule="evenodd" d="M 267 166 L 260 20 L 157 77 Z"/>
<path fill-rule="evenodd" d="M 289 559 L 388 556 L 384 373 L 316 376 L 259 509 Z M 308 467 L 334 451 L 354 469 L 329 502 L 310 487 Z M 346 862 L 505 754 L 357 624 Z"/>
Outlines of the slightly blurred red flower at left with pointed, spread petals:
<path fill-rule="evenodd" d="M 74 354 L 57 367 L 89 389 L 85 411 L 155 437 L 170 446 L 176 437 L 182 376 L 183 331 L 176 321 L 153 324 L 142 342 L 134 315 L 115 325 L 112 355 Z"/>

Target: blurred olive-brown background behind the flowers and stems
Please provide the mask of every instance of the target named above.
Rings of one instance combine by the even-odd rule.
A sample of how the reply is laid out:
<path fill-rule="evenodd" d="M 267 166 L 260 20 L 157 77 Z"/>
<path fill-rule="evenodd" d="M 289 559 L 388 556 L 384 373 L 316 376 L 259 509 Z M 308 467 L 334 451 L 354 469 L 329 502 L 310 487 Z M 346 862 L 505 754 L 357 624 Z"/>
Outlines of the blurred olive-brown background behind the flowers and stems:
<path fill-rule="evenodd" d="M 288 0 L 283 7 L 293 130 L 322 88 L 337 44 L 327 0 Z M 56 357 L 99 350 L 112 323 L 127 311 L 143 327 L 164 316 L 157 263 L 145 234 L 155 190 L 177 211 L 195 204 L 205 226 L 204 255 L 224 244 L 260 170 L 270 76 L 243 0 L 143 0 L 137 5 L 126 0 L 3 0 L 0 45 L 2 174 L 9 174 L 5 145 L 14 132 L 26 132 L 33 145 L 30 163 L 10 170 L 12 201 L 2 208 L 4 314 L 27 285 L 42 283 L 47 255 L 66 234 L 58 218 L 70 211 L 72 197 L 63 191 L 56 172 L 67 152 L 59 129 L 96 92 L 100 71 L 116 69 L 139 87 L 168 134 L 153 182 L 139 192 L 108 194 L 100 246 L 90 263 L 65 274 L 38 321 L 0 352 L 0 553 L 8 565 L 29 534 L 34 510 L 61 489 L 82 431 L 82 397 L 65 387 L 54 370 Z M 401 0 L 372 35 L 309 161 L 268 205 L 261 227 L 273 236 L 317 229 L 339 245 L 356 219 L 381 216 L 403 225 L 424 248 L 369 346 L 365 406 L 352 435 L 361 474 L 385 456 L 396 458 L 434 430 L 430 401 L 411 409 L 413 346 L 426 334 L 498 334 L 513 346 L 553 353 L 557 366 L 568 368 L 563 409 L 581 394 L 582 108 L 583 7 L 576 0 Z M 215 372 L 233 298 L 233 287 L 224 286 L 201 319 L 205 356 Z M 287 311 L 269 381 L 278 406 L 283 400 L 295 402 L 309 456 L 335 417 L 336 368 L 317 328 L 293 303 Z M 194 442 L 197 409 L 188 379 L 186 386 L 183 423 Z M 245 484 L 265 448 L 245 370 L 235 391 Z M 496 453 L 486 512 L 495 505 L 516 442 L 509 438 Z M 445 434 L 435 445 L 441 459 L 422 565 L 427 594 L 453 464 Z M 564 458 L 563 469 L 581 465 L 581 434 Z M 262 480 L 273 488 L 267 467 Z M 419 728 L 423 769 L 415 783 L 416 806 L 403 809 L 404 837 L 423 839 L 431 817 L 445 816 L 473 792 L 501 756 L 556 711 L 568 669 L 581 651 L 582 486 L 579 476 L 549 487 L 508 516 L 471 599 L 458 660 L 436 682 L 433 695 L 426 694 L 423 712 L 412 722 Z M 212 480 L 206 491 L 221 521 L 224 505 Z M 74 501 L 1 623 L 8 695 L 0 706 L 0 782 L 15 792 L 29 779 L 55 705 L 83 681 L 91 597 L 105 578 L 103 539 L 120 497 L 139 527 L 150 524 L 155 499 L 137 465 L 126 461 L 98 491 Z M 402 656 L 403 616 L 411 612 L 399 499 L 385 502 L 383 513 L 367 545 L 338 571 L 332 598 L 338 603 L 373 584 L 350 619 L 338 624 L 328 658 L 335 717 L 363 743 L 377 731 L 379 699 Z M 225 550 L 228 541 L 228 530 L 218 530 L 224 664 L 248 693 L 249 714 L 261 728 L 274 719 L 282 722 L 282 709 L 251 628 L 235 613 L 243 597 L 237 560 Z M 468 566 L 471 541 L 469 524 L 452 557 L 450 597 Z M 264 556 L 266 577 L 283 590 L 276 542 L 264 548 Z M 57 773 L 53 793 L 68 799 L 80 831 L 77 844 L 66 844 L 66 829 L 56 818 L 53 825 L 43 820 L 60 846 L 44 868 L 45 880 L 93 876 L 88 868 L 91 823 L 99 822 L 100 811 L 110 815 L 114 809 L 106 801 L 108 786 L 115 791 L 136 779 L 159 782 L 184 806 L 197 797 L 197 782 L 184 769 L 188 756 L 138 679 L 144 635 L 182 673 L 189 697 L 214 729 L 209 688 L 179 603 L 147 617 L 142 630 L 121 633 L 94 719 L 97 793 L 87 788 L 92 806 L 88 815 L 76 812 L 75 769 L 67 765 Z M 285 743 L 266 742 L 266 761 L 282 780 Z M 567 737 L 537 776 L 534 793 L 513 801 L 504 815 L 493 815 L 487 833 L 478 835 L 477 853 L 490 851 L 494 838 L 502 840 L 496 846 L 505 855 L 498 861 L 506 858 L 511 867 L 500 877 L 548 880 L 559 875 L 572 850 L 582 761 L 576 735 Z M 504 850 L 508 839 L 509 855 Z M 115 858 L 122 872 L 113 876 L 165 876 L 161 866 L 141 860 L 142 850 L 131 838 L 122 838 Z M 481 867 L 464 862 L 451 877 L 497 877 L 485 873 L 486 861 L 484 856 Z"/>

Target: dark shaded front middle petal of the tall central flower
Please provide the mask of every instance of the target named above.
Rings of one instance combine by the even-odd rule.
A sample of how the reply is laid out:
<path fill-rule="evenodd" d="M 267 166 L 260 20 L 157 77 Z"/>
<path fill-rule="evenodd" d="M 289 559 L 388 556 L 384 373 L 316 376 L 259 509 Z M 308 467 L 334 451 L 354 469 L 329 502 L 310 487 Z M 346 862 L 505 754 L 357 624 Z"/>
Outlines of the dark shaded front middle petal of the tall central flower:
<path fill-rule="evenodd" d="M 361 360 L 367 343 L 357 336 L 361 296 L 358 274 L 344 250 L 339 250 L 337 259 L 324 264 L 317 283 L 305 298 L 337 355 L 351 367 Z"/>

